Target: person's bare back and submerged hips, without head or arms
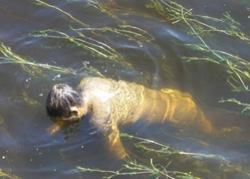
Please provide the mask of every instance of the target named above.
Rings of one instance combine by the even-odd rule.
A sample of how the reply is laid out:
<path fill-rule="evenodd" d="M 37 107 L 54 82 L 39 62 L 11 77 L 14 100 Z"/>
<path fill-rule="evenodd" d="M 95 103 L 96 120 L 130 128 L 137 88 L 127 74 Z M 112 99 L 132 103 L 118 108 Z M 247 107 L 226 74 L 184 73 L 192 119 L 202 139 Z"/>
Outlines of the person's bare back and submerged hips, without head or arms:
<path fill-rule="evenodd" d="M 156 91 L 135 83 L 98 77 L 85 78 L 80 87 L 92 97 L 97 125 L 123 125 L 142 118 L 148 123 L 169 120 L 185 124 L 201 115 L 191 96 L 178 90 Z"/>

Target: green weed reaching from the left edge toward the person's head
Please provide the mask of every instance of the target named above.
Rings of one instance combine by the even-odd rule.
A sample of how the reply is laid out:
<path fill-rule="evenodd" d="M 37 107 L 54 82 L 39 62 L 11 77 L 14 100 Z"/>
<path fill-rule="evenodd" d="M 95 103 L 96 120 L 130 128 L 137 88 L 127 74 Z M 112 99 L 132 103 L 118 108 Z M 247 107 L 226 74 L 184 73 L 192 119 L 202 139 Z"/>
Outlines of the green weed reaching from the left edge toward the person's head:
<path fill-rule="evenodd" d="M 61 73 L 76 74 L 76 71 L 70 68 L 61 68 L 53 65 L 28 61 L 27 59 L 24 59 L 13 53 L 11 48 L 5 46 L 3 43 L 0 45 L 0 52 L 3 55 L 3 57 L 0 57 L 0 64 L 20 64 L 21 67 L 31 75 L 34 75 L 34 72 L 43 75 L 41 69 L 48 69 Z"/>

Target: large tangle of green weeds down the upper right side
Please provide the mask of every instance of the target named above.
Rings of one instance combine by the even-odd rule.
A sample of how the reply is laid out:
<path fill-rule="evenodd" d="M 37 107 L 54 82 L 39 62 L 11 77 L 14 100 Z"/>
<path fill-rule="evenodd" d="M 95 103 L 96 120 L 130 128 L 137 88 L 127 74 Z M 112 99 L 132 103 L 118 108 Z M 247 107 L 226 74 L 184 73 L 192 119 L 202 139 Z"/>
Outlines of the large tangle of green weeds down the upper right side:
<path fill-rule="evenodd" d="M 232 39 L 238 38 L 246 45 L 250 44 L 249 35 L 242 32 L 240 23 L 236 22 L 229 13 L 225 13 L 222 18 L 197 15 L 192 13 L 192 9 L 187 9 L 170 0 L 151 0 L 151 4 L 148 4 L 147 8 L 154 9 L 172 24 L 180 23 L 187 30 L 189 28 L 189 34 L 199 40 L 200 43 L 185 44 L 185 46 L 196 52 L 203 53 L 203 57 L 182 57 L 186 62 L 203 61 L 220 65 L 228 75 L 227 83 L 232 87 L 232 91 L 250 92 L 247 85 L 250 84 L 250 62 L 226 51 L 214 49 L 210 45 L 211 42 L 207 42 L 209 40 L 206 36 L 219 34 L 226 35 Z M 237 99 L 223 99 L 219 102 L 235 103 L 243 107 L 241 110 L 243 114 L 249 115 L 250 104 L 248 103 Z"/>

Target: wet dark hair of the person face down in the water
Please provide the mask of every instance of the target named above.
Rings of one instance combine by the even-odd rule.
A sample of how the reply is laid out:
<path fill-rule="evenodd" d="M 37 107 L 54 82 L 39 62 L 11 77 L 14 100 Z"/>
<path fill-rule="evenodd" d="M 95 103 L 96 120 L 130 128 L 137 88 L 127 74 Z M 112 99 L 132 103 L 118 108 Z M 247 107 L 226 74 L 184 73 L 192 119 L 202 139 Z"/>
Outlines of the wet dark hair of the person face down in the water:
<path fill-rule="evenodd" d="M 66 84 L 56 84 L 50 90 L 46 110 L 50 117 L 69 117 L 70 108 L 76 105 L 82 105 L 81 93 L 73 90 Z"/>

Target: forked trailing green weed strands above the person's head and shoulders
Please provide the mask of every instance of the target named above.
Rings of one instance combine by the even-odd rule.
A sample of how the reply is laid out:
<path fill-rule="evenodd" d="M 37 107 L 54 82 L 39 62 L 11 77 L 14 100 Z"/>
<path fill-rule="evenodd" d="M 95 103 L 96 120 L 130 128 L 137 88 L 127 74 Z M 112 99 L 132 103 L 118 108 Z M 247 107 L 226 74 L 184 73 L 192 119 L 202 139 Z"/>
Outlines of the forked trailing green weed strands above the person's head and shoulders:
<path fill-rule="evenodd" d="M 96 40 L 92 37 L 88 37 L 84 35 L 82 32 L 91 32 L 93 34 L 104 33 L 104 32 L 112 32 L 118 34 L 120 36 L 125 36 L 128 40 L 133 40 L 135 42 L 141 43 L 141 41 L 151 41 L 153 39 L 150 34 L 146 31 L 129 25 L 121 25 L 117 28 L 114 27 L 101 27 L 101 28 L 78 28 L 75 29 L 70 26 L 70 29 L 75 32 L 75 35 L 72 33 L 68 35 L 65 32 L 46 29 L 39 30 L 30 34 L 32 37 L 42 37 L 42 38 L 52 38 L 58 40 L 67 40 L 67 42 L 71 43 L 72 46 L 82 47 L 86 51 L 89 51 L 90 54 L 94 57 L 105 58 L 109 60 L 113 60 L 115 62 L 121 63 L 124 67 L 130 67 L 131 64 L 128 63 L 123 55 L 119 54 L 114 48 L 110 45 Z"/>

